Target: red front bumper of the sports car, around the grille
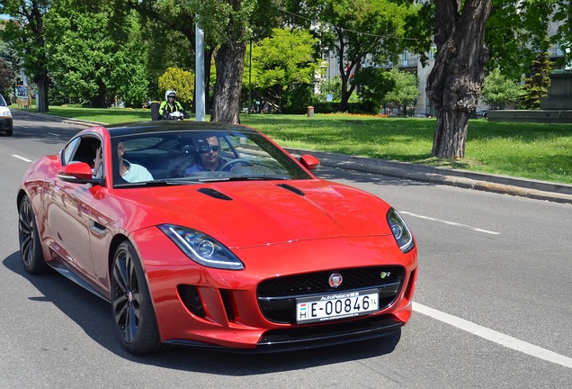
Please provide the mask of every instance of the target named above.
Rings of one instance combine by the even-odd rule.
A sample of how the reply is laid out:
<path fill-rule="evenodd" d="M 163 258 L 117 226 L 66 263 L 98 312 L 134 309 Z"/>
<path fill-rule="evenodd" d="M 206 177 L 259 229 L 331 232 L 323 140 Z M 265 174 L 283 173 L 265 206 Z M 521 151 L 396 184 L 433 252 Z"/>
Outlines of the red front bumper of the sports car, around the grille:
<path fill-rule="evenodd" d="M 161 235 L 134 238 L 165 343 L 250 352 L 316 348 L 391 334 L 411 316 L 416 249 L 403 254 L 392 237 L 297 241 L 239 249 L 235 253 L 246 268 L 228 271 L 195 264 Z M 160 252 L 156 248 L 161 248 Z M 292 255 L 297 259 L 292 260 Z M 398 287 L 389 287 L 394 295 L 380 305 L 379 312 L 309 324 L 279 321 L 263 312 L 259 286 L 264 280 L 362 267 L 402 269 Z M 386 292 L 381 286 L 380 296 Z M 283 303 L 293 310 L 286 300 Z"/>

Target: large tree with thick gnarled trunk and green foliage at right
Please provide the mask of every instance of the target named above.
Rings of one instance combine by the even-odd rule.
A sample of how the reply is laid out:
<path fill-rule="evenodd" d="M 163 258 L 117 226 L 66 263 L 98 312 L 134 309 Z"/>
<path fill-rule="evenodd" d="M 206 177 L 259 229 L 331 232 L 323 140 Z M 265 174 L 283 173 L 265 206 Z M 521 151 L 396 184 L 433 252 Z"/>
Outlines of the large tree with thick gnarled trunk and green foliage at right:
<path fill-rule="evenodd" d="M 437 110 L 432 152 L 442 158 L 464 157 L 466 116 L 478 101 L 489 59 L 489 68 L 518 81 L 550 44 L 566 49 L 572 42 L 569 0 L 432 0 L 414 16 L 407 27 L 407 36 L 416 38 L 410 49 L 428 52 L 430 31 L 437 44 L 428 95 Z M 550 22 L 558 23 L 556 31 Z"/>

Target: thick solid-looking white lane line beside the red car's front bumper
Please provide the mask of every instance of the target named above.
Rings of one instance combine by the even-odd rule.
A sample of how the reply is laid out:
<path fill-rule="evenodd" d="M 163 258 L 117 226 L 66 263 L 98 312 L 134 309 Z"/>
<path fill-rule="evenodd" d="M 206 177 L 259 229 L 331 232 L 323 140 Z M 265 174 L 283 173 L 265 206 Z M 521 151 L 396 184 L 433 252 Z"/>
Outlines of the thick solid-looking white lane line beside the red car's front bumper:
<path fill-rule="evenodd" d="M 505 348 L 511 348 L 516 351 L 523 352 L 524 354 L 528 354 L 532 357 L 538 357 L 560 366 L 572 368 L 572 358 L 557 354 L 546 348 L 541 348 L 523 340 L 515 339 L 496 330 L 487 329 L 487 327 L 480 326 L 471 321 L 460 319 L 456 316 L 450 315 L 449 313 L 437 311 L 420 303 L 413 302 L 413 310 L 415 312 L 419 312 L 425 314 L 426 316 L 432 317 L 435 320 L 450 324 L 451 326 L 460 330 L 466 330 L 467 332 L 473 335 L 477 335 L 480 338 L 490 340 L 501 346 L 505 346 Z"/>

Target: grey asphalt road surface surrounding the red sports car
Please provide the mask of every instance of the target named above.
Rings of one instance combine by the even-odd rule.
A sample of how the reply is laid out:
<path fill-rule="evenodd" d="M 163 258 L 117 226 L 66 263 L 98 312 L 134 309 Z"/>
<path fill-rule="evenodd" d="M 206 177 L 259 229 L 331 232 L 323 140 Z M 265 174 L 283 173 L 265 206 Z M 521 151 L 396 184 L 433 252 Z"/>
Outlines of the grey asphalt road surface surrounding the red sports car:
<path fill-rule="evenodd" d="M 110 306 L 29 276 L 15 190 L 28 160 L 81 127 L 16 120 L 0 134 L 0 389 L 565 388 L 572 383 L 572 205 L 323 168 L 394 205 L 416 234 L 414 315 L 398 336 L 275 355 L 171 348 L 135 357 Z"/>

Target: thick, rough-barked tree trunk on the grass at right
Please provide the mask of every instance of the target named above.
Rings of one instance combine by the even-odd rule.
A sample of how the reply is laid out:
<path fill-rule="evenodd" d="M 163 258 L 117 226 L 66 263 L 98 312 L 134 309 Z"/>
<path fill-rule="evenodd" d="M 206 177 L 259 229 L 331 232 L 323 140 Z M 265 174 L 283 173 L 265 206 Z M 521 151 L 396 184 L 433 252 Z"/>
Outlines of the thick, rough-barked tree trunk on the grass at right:
<path fill-rule="evenodd" d="M 465 157 L 469 113 L 477 107 L 488 61 L 484 41 L 491 2 L 435 0 L 437 56 L 428 79 L 437 114 L 433 157 Z"/>

